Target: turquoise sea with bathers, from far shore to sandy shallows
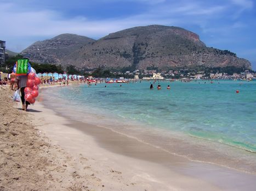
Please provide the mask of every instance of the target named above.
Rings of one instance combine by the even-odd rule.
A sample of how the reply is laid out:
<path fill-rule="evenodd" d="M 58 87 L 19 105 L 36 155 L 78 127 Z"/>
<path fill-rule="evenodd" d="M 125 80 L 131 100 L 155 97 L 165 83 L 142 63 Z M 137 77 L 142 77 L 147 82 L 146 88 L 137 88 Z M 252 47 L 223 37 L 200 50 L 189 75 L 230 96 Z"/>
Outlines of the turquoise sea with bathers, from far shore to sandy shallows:
<path fill-rule="evenodd" d="M 150 83 L 153 89 L 149 88 Z M 161 90 L 156 88 L 158 83 Z M 167 85 L 171 89 L 167 89 Z M 114 130 L 122 133 L 137 130 L 131 136 L 147 142 L 150 139 L 145 135 L 151 136 L 149 132 L 152 139 L 157 133 L 162 134 L 157 136 L 161 140 L 150 144 L 165 150 L 169 145 L 169 152 L 177 153 L 173 144 L 169 144 L 173 140 L 167 139 L 173 136 L 188 144 L 179 147 L 181 155 L 191 146 L 188 140 L 194 139 L 192 145 L 200 142 L 201 146 L 212 147 L 214 152 L 237 151 L 237 155 L 230 153 L 230 158 L 236 155 L 245 160 L 248 157 L 248 163 L 256 159 L 256 81 L 138 81 L 98 83 L 90 87 L 81 83 L 68 88 L 51 88 L 50 94 L 51 98 L 47 99 L 52 100 L 52 107 L 72 119 L 93 120 L 100 126 L 116 127 Z M 62 101 L 55 102 L 57 98 Z M 187 156 L 193 159 L 193 154 L 196 157 L 198 151 Z M 229 158 L 223 164 L 226 163 Z"/>

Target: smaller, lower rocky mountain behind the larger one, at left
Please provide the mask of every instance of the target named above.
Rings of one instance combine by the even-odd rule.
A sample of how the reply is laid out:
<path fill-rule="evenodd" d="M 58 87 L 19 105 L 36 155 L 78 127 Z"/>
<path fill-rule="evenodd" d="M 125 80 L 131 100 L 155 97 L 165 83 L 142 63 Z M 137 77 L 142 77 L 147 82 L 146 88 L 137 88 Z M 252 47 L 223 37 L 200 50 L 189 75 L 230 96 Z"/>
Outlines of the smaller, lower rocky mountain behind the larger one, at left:
<path fill-rule="evenodd" d="M 37 41 L 21 52 L 36 63 L 56 63 L 66 55 L 95 40 L 76 34 L 60 34 L 52 39 Z"/>

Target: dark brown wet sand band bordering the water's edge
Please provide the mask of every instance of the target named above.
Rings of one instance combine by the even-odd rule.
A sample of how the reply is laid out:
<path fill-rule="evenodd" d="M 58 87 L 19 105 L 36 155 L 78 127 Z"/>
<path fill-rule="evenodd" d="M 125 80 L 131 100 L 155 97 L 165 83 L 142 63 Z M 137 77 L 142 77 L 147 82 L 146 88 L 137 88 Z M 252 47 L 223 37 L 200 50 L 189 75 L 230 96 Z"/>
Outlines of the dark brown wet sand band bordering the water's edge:
<path fill-rule="evenodd" d="M 42 107 L 43 107 L 43 105 L 41 105 L 41 108 Z M 46 109 L 46 108 L 44 108 L 44 109 Z M 47 110 L 49 110 L 49 109 L 47 109 Z M 53 110 L 51 110 L 51 111 L 53 112 Z M 196 169 L 190 169 L 189 170 L 189 168 L 186 169 L 186 167 L 184 167 L 184 166 L 197 166 L 197 168 L 199 169 L 198 172 L 204 171 L 203 176 L 197 177 L 200 181 L 202 181 L 202 179 L 206 179 L 207 181 L 204 182 L 204 183 L 209 183 L 209 182 L 212 182 L 215 178 L 215 181 L 213 181 L 213 182 L 215 182 L 215 186 L 218 187 L 220 185 L 220 186 L 225 187 L 225 181 L 223 181 L 222 178 L 218 174 L 226 173 L 226 174 L 230 174 L 230 177 L 231 177 L 230 180 L 229 180 L 229 178 L 227 178 L 226 181 L 230 182 L 229 186 L 234 187 L 234 188 L 235 188 L 235 186 L 231 185 L 231 182 L 234 181 L 234 180 L 232 180 L 232 178 L 239 177 L 239 178 L 244 179 L 243 180 L 244 181 L 243 186 L 251 185 L 251 183 L 252 183 L 251 181 L 252 181 L 253 177 L 255 178 L 254 175 L 249 175 L 249 174 L 243 173 L 241 171 L 237 171 L 237 170 L 227 169 L 223 166 L 216 166 L 216 165 L 211 165 L 211 164 L 191 162 L 189 160 L 184 159 L 184 157 L 178 157 L 178 156 L 170 157 L 170 156 L 168 156 L 169 157 L 168 158 L 168 157 L 166 157 L 167 156 L 166 152 L 157 150 L 156 148 L 153 148 L 152 146 L 147 145 L 145 143 L 139 142 L 138 140 L 134 140 L 134 139 L 128 138 L 127 136 L 123 136 L 121 134 L 115 133 L 110 129 L 97 127 L 97 126 L 94 126 L 92 124 L 87 124 L 87 123 L 83 123 L 83 122 L 70 121 L 69 119 L 67 120 L 66 117 L 64 118 L 64 116 L 61 116 L 59 113 L 56 113 L 56 112 L 53 112 L 53 115 L 57 115 L 58 117 L 61 117 L 62 120 L 65 120 L 66 122 L 64 123 L 64 125 L 66 127 L 69 126 L 69 128 L 71 128 L 69 130 L 76 129 L 79 132 L 81 132 L 83 135 L 86 134 L 87 138 L 88 138 L 88 136 L 90 136 L 90 138 L 93 138 L 94 146 L 96 145 L 95 150 L 104 149 L 107 152 L 110 152 L 111 156 L 114 153 L 114 154 L 117 154 L 118 156 L 121 155 L 122 157 L 125 157 L 126 160 L 127 160 L 127 157 L 128 157 L 128 158 L 133 158 L 134 160 L 143 160 L 144 161 L 143 163 L 154 163 L 154 164 L 158 165 L 158 168 L 159 168 L 159 165 L 160 165 L 161 167 L 164 167 L 162 170 L 166 174 L 168 174 L 168 173 L 170 173 L 170 174 L 177 173 L 177 172 L 175 172 L 175 170 L 177 170 L 177 168 L 178 168 L 179 173 L 176 176 L 178 176 L 178 177 L 181 176 L 182 177 L 183 176 L 182 173 L 190 174 L 190 176 L 192 174 L 191 177 L 186 177 L 186 178 L 188 178 L 188 179 L 192 178 L 193 179 L 195 176 L 197 176 L 196 175 L 197 170 Z M 85 129 L 84 126 L 89 127 L 89 128 Z M 54 132 L 51 132 L 51 133 L 54 133 Z M 107 138 L 106 138 L 106 136 L 107 136 Z M 118 138 L 118 136 L 119 136 L 119 138 Z M 114 140 L 114 141 L 110 141 L 110 140 Z M 126 140 L 126 141 L 124 141 L 124 140 Z M 124 141 L 125 144 L 122 143 L 122 141 Z M 118 145 L 118 146 L 116 146 L 116 145 Z M 129 145 L 129 146 L 126 146 L 126 145 Z M 143 148 L 140 148 L 139 151 L 136 151 L 136 148 L 140 147 L 141 145 L 144 145 Z M 127 149 L 128 149 L 128 151 L 125 153 L 123 150 L 127 150 Z M 145 149 L 146 150 L 149 149 L 149 153 L 151 153 L 151 155 L 146 156 L 145 153 L 141 154 L 141 151 L 144 151 Z M 104 152 L 106 152 L 106 151 L 104 151 Z M 162 155 L 162 157 L 158 157 L 159 155 L 160 156 Z M 172 154 L 168 154 L 168 155 L 172 155 Z M 179 166 L 179 165 L 181 165 L 181 166 Z M 169 169 L 170 171 L 169 170 L 166 171 L 167 166 L 168 166 L 168 168 L 171 167 L 170 168 L 171 170 Z M 147 168 L 148 168 L 148 166 L 147 166 Z M 215 174 L 215 177 L 214 177 L 214 175 L 211 175 L 211 176 L 207 177 L 205 175 L 205 174 L 207 174 L 207 168 L 212 169 L 212 170 L 214 169 L 215 173 L 216 172 L 218 172 L 218 173 Z M 183 169 L 183 170 L 180 170 L 180 169 Z M 186 170 L 184 170 L 184 169 L 186 169 Z M 123 170 L 123 171 L 127 171 L 127 170 Z M 151 171 L 151 173 L 153 173 L 153 172 Z M 211 173 L 211 172 L 208 171 L 208 173 Z M 246 181 L 246 179 L 247 179 L 247 181 Z M 194 180 L 194 182 L 197 182 L 197 181 Z M 222 183 L 220 183 L 220 182 L 222 182 Z M 175 184 L 173 184 L 173 185 L 175 185 Z M 227 186 L 227 187 L 229 187 L 229 186 Z M 177 186 L 177 188 L 178 187 L 179 186 Z M 187 188 L 191 189 L 191 186 L 187 187 Z M 213 190 L 218 190 L 218 189 L 219 188 L 215 187 Z"/>

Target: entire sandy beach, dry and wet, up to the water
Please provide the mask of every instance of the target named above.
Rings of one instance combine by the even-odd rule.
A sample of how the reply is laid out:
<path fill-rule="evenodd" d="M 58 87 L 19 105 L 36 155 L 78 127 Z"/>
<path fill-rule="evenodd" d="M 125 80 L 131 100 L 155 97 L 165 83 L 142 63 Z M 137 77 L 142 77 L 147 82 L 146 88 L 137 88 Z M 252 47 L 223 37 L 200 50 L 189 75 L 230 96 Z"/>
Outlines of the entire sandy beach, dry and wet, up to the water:
<path fill-rule="evenodd" d="M 12 93 L 0 89 L 0 190 L 255 190 L 254 174 L 191 162 L 74 121 L 42 97 L 24 112 Z"/>

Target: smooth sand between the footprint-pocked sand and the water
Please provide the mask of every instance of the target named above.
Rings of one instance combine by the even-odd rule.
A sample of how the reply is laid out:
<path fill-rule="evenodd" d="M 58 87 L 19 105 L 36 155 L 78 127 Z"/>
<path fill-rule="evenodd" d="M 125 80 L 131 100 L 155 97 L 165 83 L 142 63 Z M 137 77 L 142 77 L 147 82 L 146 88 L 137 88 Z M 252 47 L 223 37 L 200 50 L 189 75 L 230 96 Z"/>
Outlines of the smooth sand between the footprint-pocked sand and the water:
<path fill-rule="evenodd" d="M 129 185 L 145 186 L 142 188 L 146 190 L 254 190 L 256 187 L 255 174 L 191 162 L 111 129 L 61 116 L 44 105 L 45 102 L 37 105 L 47 115 L 43 118 L 53 120 L 49 128 L 44 125 L 42 130 L 73 156 L 87 155 L 96 164 L 104 165 L 97 170 L 101 171 L 98 174 L 101 180 L 108 179 L 104 171 L 106 166 L 112 166 L 130 181 Z M 118 189 L 121 188 L 114 190 Z"/>

